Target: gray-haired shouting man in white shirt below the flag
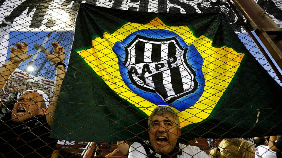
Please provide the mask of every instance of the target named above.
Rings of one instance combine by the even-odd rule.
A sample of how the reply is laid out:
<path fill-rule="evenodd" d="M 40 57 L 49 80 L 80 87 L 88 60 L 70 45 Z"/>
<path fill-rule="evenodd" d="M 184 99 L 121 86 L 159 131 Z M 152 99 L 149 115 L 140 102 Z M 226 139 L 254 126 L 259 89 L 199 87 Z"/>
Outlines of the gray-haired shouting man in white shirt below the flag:
<path fill-rule="evenodd" d="M 169 107 L 155 108 L 148 118 L 149 142 L 134 142 L 129 148 L 129 158 L 181 157 L 208 158 L 197 146 L 179 143 L 181 135 L 179 117 Z"/>

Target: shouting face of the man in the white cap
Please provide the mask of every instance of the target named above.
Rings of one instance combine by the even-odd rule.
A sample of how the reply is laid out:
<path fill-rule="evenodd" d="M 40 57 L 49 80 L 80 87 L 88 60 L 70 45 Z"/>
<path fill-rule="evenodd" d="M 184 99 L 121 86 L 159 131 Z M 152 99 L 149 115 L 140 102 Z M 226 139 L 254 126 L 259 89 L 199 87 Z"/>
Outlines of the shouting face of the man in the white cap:
<path fill-rule="evenodd" d="M 42 96 L 36 92 L 22 94 L 13 107 L 12 121 L 21 122 L 34 116 L 45 114 L 47 109 L 46 107 L 41 108 L 42 100 Z"/>

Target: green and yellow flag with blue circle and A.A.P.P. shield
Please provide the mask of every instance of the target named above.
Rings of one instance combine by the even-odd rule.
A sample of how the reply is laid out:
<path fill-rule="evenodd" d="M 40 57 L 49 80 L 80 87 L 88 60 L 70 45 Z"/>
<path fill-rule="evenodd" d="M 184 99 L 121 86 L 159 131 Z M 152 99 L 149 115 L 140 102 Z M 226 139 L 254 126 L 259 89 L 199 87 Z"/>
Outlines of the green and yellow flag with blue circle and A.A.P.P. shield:
<path fill-rule="evenodd" d="M 183 138 L 282 134 L 282 89 L 225 19 L 81 4 L 52 137 L 148 140 L 160 105 Z"/>

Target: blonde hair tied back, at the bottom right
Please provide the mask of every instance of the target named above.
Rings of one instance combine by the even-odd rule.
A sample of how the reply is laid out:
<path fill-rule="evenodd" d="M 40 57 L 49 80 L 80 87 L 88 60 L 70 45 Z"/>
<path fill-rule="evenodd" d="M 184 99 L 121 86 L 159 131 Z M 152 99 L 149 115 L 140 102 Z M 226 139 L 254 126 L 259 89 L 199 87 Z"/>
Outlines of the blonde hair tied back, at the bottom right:
<path fill-rule="evenodd" d="M 256 148 L 244 139 L 224 139 L 209 155 L 212 158 L 254 158 Z"/>

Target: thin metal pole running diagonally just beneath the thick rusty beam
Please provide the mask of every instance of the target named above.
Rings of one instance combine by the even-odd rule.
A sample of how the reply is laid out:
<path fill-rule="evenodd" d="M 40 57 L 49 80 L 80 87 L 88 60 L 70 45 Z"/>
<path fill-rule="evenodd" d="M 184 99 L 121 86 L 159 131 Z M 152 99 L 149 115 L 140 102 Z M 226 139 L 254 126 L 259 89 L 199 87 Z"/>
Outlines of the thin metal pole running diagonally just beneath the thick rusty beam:
<path fill-rule="evenodd" d="M 280 74 L 279 70 L 277 69 L 277 67 L 275 66 L 275 64 L 273 63 L 273 61 L 271 60 L 271 58 L 268 56 L 267 52 L 263 49 L 262 45 L 260 44 L 260 42 L 256 39 L 256 37 L 253 35 L 253 33 L 251 32 L 251 30 L 246 26 L 244 20 L 242 19 L 241 15 L 237 12 L 236 8 L 234 7 L 234 5 L 230 2 L 230 0 L 227 0 L 227 2 L 229 3 L 230 7 L 233 9 L 233 11 L 235 12 L 235 14 L 238 17 L 239 22 L 245 27 L 245 30 L 248 32 L 248 34 L 250 35 L 250 37 L 253 39 L 253 41 L 256 43 L 257 47 L 260 49 L 260 51 L 262 52 L 262 54 L 264 55 L 264 57 L 266 58 L 267 62 L 269 63 L 269 65 L 272 67 L 273 71 L 275 72 L 275 74 L 277 75 L 278 79 L 280 80 L 280 82 L 282 82 L 282 75 Z"/>

